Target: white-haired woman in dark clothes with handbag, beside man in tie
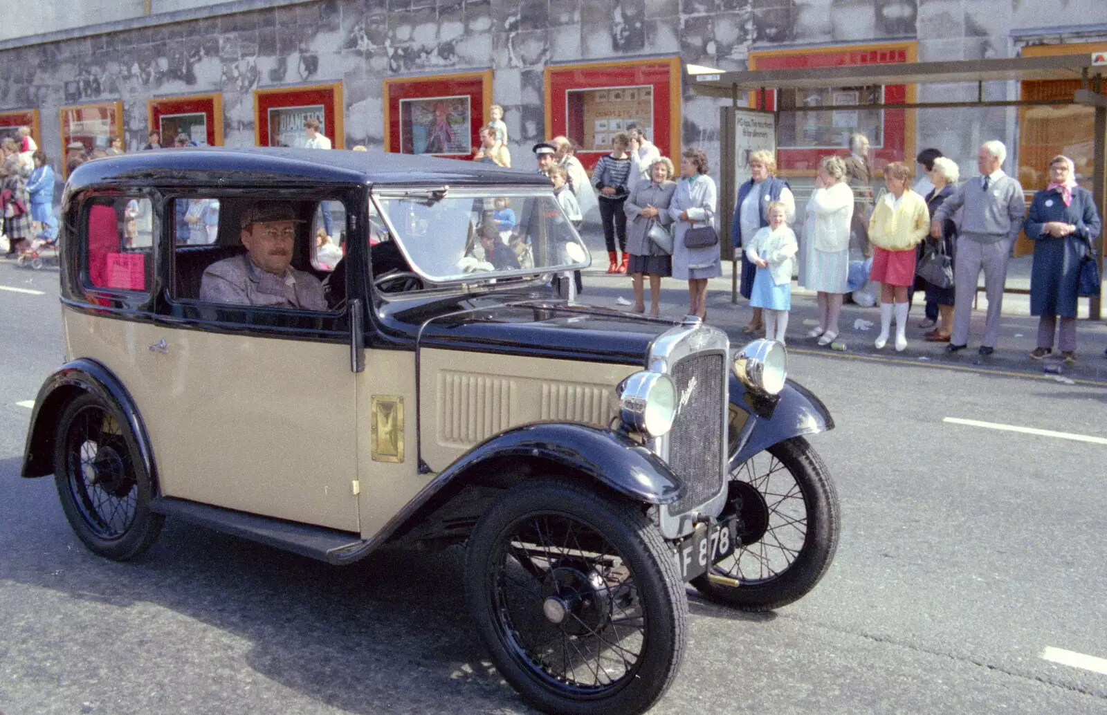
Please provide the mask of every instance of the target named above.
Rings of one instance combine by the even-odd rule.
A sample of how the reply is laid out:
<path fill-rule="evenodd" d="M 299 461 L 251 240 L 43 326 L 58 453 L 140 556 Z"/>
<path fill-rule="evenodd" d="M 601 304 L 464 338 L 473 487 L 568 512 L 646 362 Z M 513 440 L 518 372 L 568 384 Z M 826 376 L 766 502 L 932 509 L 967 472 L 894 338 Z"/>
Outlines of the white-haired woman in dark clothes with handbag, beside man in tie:
<path fill-rule="evenodd" d="M 956 163 L 939 156 L 931 160 L 931 168 L 927 175 L 934 185 L 934 190 L 927 195 L 927 210 L 934 216 L 938 207 L 953 196 L 961 173 Z M 927 287 L 927 302 L 938 304 L 938 324 L 925 333 L 927 341 L 932 343 L 950 342 L 953 331 L 953 247 L 956 239 L 958 225 L 953 219 L 945 219 L 942 224 L 942 240 L 927 237 L 923 256 L 917 270 Z M 930 266 L 931 263 L 934 266 Z M 949 267 L 948 270 L 945 266 Z M 931 280 L 928 280 L 928 276 Z M 941 280 L 935 282 L 933 279 L 937 276 L 941 276 Z"/>

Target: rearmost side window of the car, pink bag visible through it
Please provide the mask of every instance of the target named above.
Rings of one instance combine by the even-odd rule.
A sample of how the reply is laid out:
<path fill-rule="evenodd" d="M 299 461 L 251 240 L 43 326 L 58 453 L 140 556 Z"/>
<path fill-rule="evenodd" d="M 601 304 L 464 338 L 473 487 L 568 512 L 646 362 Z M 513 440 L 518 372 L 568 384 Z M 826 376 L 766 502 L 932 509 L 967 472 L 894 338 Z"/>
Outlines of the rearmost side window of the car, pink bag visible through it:
<path fill-rule="evenodd" d="M 149 199 L 93 199 L 84 226 L 89 286 L 145 291 L 154 269 L 153 225 Z"/>

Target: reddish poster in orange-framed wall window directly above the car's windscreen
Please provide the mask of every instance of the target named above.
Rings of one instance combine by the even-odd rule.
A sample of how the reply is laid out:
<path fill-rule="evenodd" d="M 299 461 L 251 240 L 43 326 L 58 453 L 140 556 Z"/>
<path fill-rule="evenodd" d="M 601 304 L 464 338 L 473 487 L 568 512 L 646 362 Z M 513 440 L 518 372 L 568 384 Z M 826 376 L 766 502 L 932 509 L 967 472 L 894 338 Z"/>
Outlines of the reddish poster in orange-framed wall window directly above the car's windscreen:
<path fill-rule="evenodd" d="M 400 100 L 400 146 L 404 154 L 473 154 L 469 95 Z"/>

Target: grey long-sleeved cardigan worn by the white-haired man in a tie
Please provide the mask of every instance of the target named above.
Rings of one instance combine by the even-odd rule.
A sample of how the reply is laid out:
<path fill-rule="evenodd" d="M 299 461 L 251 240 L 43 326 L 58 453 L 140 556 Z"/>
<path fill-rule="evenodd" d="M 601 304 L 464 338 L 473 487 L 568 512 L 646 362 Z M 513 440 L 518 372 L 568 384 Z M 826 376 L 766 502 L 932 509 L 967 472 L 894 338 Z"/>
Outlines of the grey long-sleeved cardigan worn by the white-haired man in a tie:
<path fill-rule="evenodd" d="M 1003 174 L 989 183 L 984 193 L 984 177 L 974 176 L 945 199 L 934 211 L 933 221 L 944 222 L 964 206 L 961 217 L 961 236 L 980 243 L 995 243 L 1018 238 L 1026 215 L 1023 187 Z"/>

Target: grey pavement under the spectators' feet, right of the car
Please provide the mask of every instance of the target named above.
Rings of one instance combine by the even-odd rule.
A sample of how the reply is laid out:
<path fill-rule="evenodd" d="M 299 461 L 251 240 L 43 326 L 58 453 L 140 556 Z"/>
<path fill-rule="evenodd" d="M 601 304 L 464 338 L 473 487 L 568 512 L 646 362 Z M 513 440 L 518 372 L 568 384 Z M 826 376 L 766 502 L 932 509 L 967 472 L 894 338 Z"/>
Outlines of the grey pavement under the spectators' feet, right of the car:
<path fill-rule="evenodd" d="M 609 276 L 604 271 L 608 266 L 607 251 L 603 250 L 602 237 L 589 231 L 586 227 L 584 240 L 592 253 L 592 267 L 583 272 L 584 290 L 579 296 L 580 302 L 608 308 L 625 308 L 623 301 L 633 302 L 634 293 L 630 278 L 627 276 Z M 1031 273 L 1031 257 L 1023 256 L 1012 259 L 1007 273 L 1008 289 L 1028 289 Z M 981 276 L 983 287 L 983 274 Z M 649 291 L 646 291 L 649 294 Z M 681 317 L 687 312 L 687 288 L 684 281 L 673 278 L 662 280 L 661 312 L 664 315 Z M 731 335 L 731 342 L 742 344 L 754 336 L 742 333 L 742 328 L 749 322 L 752 309 L 741 296 L 737 303 L 732 302 L 731 263 L 723 261 L 723 274 L 707 283 L 707 322 L 725 330 Z M 1087 300 L 1080 300 L 1083 317 L 1087 317 Z M 646 298 L 649 305 L 649 298 Z M 816 339 L 807 338 L 807 331 L 818 324 L 818 305 L 814 292 L 800 289 L 795 281 L 792 284 L 792 311 L 788 319 L 787 345 L 789 352 L 825 353 L 845 359 L 868 359 L 883 362 L 929 363 L 934 366 L 951 369 L 983 370 L 990 372 L 1008 372 L 1018 375 L 1033 375 L 1047 380 L 1074 380 L 1089 382 L 1107 382 L 1107 322 L 1079 320 L 1077 323 L 1077 362 L 1065 365 L 1054 356 L 1046 361 L 1033 361 L 1027 353 L 1037 346 L 1037 318 L 1030 314 L 1030 296 L 1007 293 L 1003 299 L 1002 320 L 1000 323 L 1000 343 L 990 356 L 979 354 L 981 335 L 984 332 L 984 318 L 987 299 L 979 293 L 979 307 L 973 311 L 972 328 L 969 333 L 969 348 L 955 354 L 948 354 L 948 343 L 927 342 L 923 333 L 929 329 L 919 328 L 924 320 L 922 296 L 915 296 L 911 308 L 907 331 L 908 346 L 903 352 L 897 352 L 893 343 L 881 351 L 873 345 L 880 332 L 880 310 L 878 307 L 863 308 L 855 303 L 842 307 L 841 331 L 838 342 L 846 345 L 846 352 L 835 352 L 830 348 L 820 348 Z M 862 322 L 859 322 L 862 321 Z M 868 325 L 866 323 L 871 323 Z M 894 330 L 894 328 L 893 328 Z M 761 335 L 757 335 L 758 338 Z M 894 338 L 894 333 L 893 333 Z"/>

